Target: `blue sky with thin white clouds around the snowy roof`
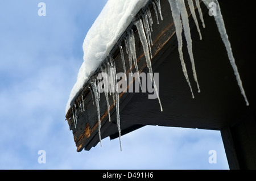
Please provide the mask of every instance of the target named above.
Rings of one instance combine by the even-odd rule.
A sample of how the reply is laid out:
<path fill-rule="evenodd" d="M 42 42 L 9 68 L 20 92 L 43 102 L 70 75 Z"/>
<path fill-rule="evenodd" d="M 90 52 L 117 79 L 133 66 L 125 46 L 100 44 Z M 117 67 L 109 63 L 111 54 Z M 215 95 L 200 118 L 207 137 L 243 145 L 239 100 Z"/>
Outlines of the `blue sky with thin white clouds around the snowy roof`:
<path fill-rule="evenodd" d="M 148 126 L 123 136 L 123 151 L 106 138 L 76 152 L 65 106 L 84 37 L 106 2 L 0 1 L 0 169 L 229 169 L 218 131 Z"/>

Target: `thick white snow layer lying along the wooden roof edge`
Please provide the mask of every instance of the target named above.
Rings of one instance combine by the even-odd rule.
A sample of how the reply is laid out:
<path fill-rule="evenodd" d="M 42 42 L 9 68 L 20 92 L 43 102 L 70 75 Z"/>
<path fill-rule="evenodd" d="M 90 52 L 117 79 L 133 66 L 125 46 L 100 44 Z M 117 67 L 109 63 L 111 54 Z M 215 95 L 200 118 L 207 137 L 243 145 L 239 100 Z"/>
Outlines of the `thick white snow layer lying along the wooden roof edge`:
<path fill-rule="evenodd" d="M 109 0 L 106 3 L 85 36 L 82 45 L 84 62 L 82 62 L 77 75 L 77 82 L 69 95 L 66 113 L 70 108 L 72 99 L 82 88 L 82 85 L 88 81 L 101 62 L 108 56 L 134 16 L 147 2 L 148 0 Z"/>

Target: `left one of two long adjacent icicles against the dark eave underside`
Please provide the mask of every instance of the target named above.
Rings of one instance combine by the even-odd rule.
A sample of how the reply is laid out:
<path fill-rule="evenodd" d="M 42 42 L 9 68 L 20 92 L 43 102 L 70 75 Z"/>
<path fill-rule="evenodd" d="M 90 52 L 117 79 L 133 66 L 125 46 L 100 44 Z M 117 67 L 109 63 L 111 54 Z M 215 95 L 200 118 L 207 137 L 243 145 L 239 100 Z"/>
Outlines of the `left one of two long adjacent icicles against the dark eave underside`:
<path fill-rule="evenodd" d="M 188 82 L 188 86 L 191 90 L 192 93 L 192 98 L 195 98 L 194 94 L 193 94 L 193 90 L 191 87 L 191 83 L 189 81 L 188 78 L 188 72 L 187 72 L 187 68 L 184 62 L 184 58 L 183 58 L 183 52 L 182 52 L 182 23 L 181 23 L 181 19 L 180 19 L 180 10 L 179 10 L 179 5 L 177 3 L 176 0 L 172 1 L 169 0 L 170 6 L 171 6 L 171 10 L 172 10 L 172 18 L 174 19 L 174 25 L 175 25 L 175 29 L 176 29 L 176 36 L 177 36 L 177 41 L 178 41 L 178 50 L 179 50 L 179 54 L 180 54 L 180 61 L 181 61 L 181 66 L 182 66 L 182 70 L 184 73 L 184 76 Z"/>

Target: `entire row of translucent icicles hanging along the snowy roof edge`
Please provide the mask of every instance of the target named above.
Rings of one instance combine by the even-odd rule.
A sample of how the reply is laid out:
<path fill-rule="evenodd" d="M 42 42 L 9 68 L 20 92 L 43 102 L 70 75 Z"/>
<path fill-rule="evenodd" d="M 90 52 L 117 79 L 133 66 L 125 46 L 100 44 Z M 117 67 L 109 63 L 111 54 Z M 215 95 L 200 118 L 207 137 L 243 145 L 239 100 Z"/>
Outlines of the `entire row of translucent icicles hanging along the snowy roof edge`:
<path fill-rule="evenodd" d="M 192 64 L 193 78 L 195 79 L 195 82 L 197 83 L 197 90 L 198 90 L 198 92 L 200 92 L 199 82 L 197 81 L 197 75 L 196 75 L 196 69 L 195 69 L 195 61 L 194 61 L 194 58 L 193 58 L 192 39 L 191 39 L 188 13 L 187 13 L 187 10 L 186 10 L 186 7 L 185 7 L 185 2 L 184 2 L 184 0 L 168 0 L 168 1 L 170 3 L 170 7 L 171 7 L 171 11 L 172 11 L 172 18 L 174 19 L 174 24 L 175 24 L 175 29 L 176 29 L 176 36 L 177 36 L 177 40 L 178 40 L 178 50 L 179 50 L 179 54 L 180 54 L 180 61 L 181 61 L 182 70 L 183 70 L 185 79 L 188 82 L 188 86 L 191 90 L 192 98 L 195 98 L 195 96 L 193 95 L 193 90 L 192 90 L 192 87 L 191 87 L 191 83 L 190 83 L 189 78 L 188 78 L 187 69 L 186 69 L 186 66 L 185 66 L 185 62 L 184 62 L 184 58 L 183 58 L 183 52 L 182 52 L 183 44 L 182 44 L 181 33 L 184 29 L 185 39 L 187 40 L 187 48 L 188 48 L 189 58 L 190 58 L 191 64 Z M 199 32 L 199 37 L 200 37 L 200 40 L 201 40 L 202 36 L 201 36 L 200 28 L 199 28 L 199 23 L 197 21 L 193 1 L 192 0 L 187 0 L 187 1 L 188 1 L 189 9 L 191 11 L 192 18 L 195 21 L 196 28 L 197 28 L 197 31 Z M 217 0 L 202 0 L 202 1 L 205 3 L 205 5 L 209 9 L 210 9 L 210 7 L 208 6 L 209 3 L 214 2 L 217 5 L 217 9 L 216 9 L 217 10 L 217 15 L 214 16 L 214 19 L 216 20 L 216 24 L 217 24 L 218 30 L 221 34 L 222 41 L 225 44 L 226 50 L 228 52 L 230 64 L 232 65 L 232 68 L 234 70 L 234 74 L 236 75 L 238 86 L 240 87 L 241 93 L 242 93 L 243 97 L 245 98 L 246 105 L 249 106 L 249 102 L 247 101 L 245 91 L 243 90 L 243 87 L 242 87 L 242 82 L 241 82 L 241 79 L 240 79 L 240 75 L 238 73 L 236 63 L 234 61 L 234 57 L 233 57 L 232 49 L 231 49 L 231 46 L 230 46 L 230 43 L 229 43 L 228 35 L 226 34 L 225 24 L 224 24 L 224 20 L 222 18 L 222 15 L 221 15 L 220 6 L 218 4 L 218 1 Z M 195 2 L 196 2 L 197 10 L 199 11 L 201 22 L 203 24 L 203 27 L 205 27 L 204 19 L 203 19 L 203 13 L 202 13 L 201 8 L 200 8 L 200 2 L 199 2 L 199 0 L 196 0 Z M 161 11 L 161 7 L 160 7 L 160 0 L 152 1 L 152 5 L 153 5 L 154 12 L 155 12 L 155 15 L 156 15 L 156 21 L 159 24 L 158 14 L 160 15 L 160 19 L 163 20 L 162 11 Z M 152 16 L 151 16 L 150 10 L 147 9 L 143 14 L 142 19 L 138 19 L 134 24 L 137 27 L 137 30 L 138 30 L 138 33 L 139 33 L 139 39 L 141 40 L 141 43 L 142 43 L 144 56 L 146 58 L 146 63 L 147 63 L 147 67 L 148 67 L 148 73 L 151 74 L 150 78 L 151 78 L 152 86 L 155 88 L 155 92 L 156 92 L 156 95 L 158 97 L 158 101 L 159 101 L 159 104 L 160 104 L 160 111 L 163 111 L 162 104 L 161 104 L 161 101 L 160 101 L 160 98 L 159 98 L 158 87 L 155 86 L 155 80 L 154 80 L 152 66 L 151 66 L 151 58 L 152 58 L 151 46 L 153 45 L 151 32 L 153 31 L 152 30 L 153 21 L 152 21 Z M 130 70 L 132 70 L 132 65 L 134 63 L 135 70 L 139 74 L 133 30 L 130 30 L 128 32 L 128 35 L 126 36 L 126 39 L 124 41 L 125 41 L 126 53 L 128 54 L 128 57 L 129 57 Z M 123 53 L 123 47 L 121 45 L 119 45 L 119 50 L 120 50 L 122 64 L 123 64 L 123 71 L 126 73 L 125 58 L 124 58 L 124 53 Z M 101 71 L 102 71 L 102 73 L 105 73 L 106 75 L 108 75 L 107 77 L 104 77 L 104 79 L 106 81 L 106 84 L 105 84 L 106 86 L 104 85 L 105 86 L 104 87 L 104 93 L 105 93 L 105 98 L 106 98 L 106 104 L 107 104 L 107 107 L 108 107 L 108 116 L 109 116 L 109 121 L 111 121 L 111 119 L 110 119 L 110 104 L 109 104 L 109 95 L 110 95 L 113 98 L 113 102 L 114 102 L 114 105 L 115 105 L 115 108 L 116 108 L 117 127 L 118 127 L 118 134 L 119 134 L 119 144 L 120 144 L 120 149 L 122 151 L 121 127 L 120 127 L 120 116 L 119 116 L 119 92 L 118 92 L 118 85 L 117 85 L 117 72 L 116 72 L 116 69 L 115 69 L 115 62 L 114 62 L 112 56 L 109 56 L 108 58 L 106 58 L 105 63 L 101 66 Z M 125 74 L 125 76 L 126 76 L 126 74 Z M 138 81 L 141 85 L 141 81 L 139 79 L 139 76 L 137 76 L 137 77 L 138 77 Z M 126 79 L 126 77 L 125 77 L 125 79 Z M 97 107 L 98 136 L 99 136 L 99 140 L 100 140 L 100 144 L 101 144 L 101 116 L 100 116 L 100 104 L 99 104 L 99 102 L 100 102 L 100 92 L 98 91 L 98 81 L 99 80 L 97 78 L 90 79 L 90 81 L 89 81 L 90 86 L 88 86 L 88 88 L 89 88 L 89 90 L 92 94 L 93 104 L 95 102 L 96 107 Z M 84 98 L 83 98 L 83 96 L 81 96 L 81 99 L 78 98 L 78 100 L 79 100 L 78 105 L 79 105 L 80 111 L 84 112 L 85 108 L 84 108 Z M 73 121 L 74 121 L 75 128 L 76 128 L 76 125 L 77 125 L 77 107 L 76 107 L 76 104 L 74 104 L 73 107 L 72 107 Z M 102 144 L 101 144 L 101 146 L 102 146 Z"/>

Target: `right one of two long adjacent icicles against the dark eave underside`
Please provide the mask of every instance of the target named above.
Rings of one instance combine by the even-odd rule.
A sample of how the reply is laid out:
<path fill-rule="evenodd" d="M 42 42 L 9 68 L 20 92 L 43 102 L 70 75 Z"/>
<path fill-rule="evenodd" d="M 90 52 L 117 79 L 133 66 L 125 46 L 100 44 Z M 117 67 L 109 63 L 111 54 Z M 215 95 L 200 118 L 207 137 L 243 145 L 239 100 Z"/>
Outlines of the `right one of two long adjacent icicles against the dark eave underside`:
<path fill-rule="evenodd" d="M 193 51 L 192 51 L 192 39 L 191 39 L 191 33 L 190 33 L 190 28 L 189 28 L 189 22 L 188 22 L 188 12 L 185 7 L 184 0 L 179 0 L 177 2 L 179 5 L 179 10 L 180 10 L 182 23 L 183 23 L 185 38 L 187 40 L 187 48 L 188 48 L 188 54 L 189 54 L 191 64 L 192 64 L 193 77 L 196 81 L 198 92 L 200 92 L 200 87 L 199 87 L 199 83 L 197 81 L 197 75 L 196 75 L 195 61 L 194 61 Z"/>

